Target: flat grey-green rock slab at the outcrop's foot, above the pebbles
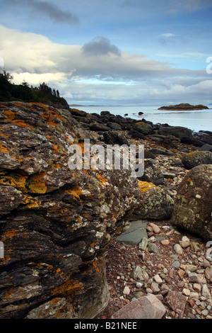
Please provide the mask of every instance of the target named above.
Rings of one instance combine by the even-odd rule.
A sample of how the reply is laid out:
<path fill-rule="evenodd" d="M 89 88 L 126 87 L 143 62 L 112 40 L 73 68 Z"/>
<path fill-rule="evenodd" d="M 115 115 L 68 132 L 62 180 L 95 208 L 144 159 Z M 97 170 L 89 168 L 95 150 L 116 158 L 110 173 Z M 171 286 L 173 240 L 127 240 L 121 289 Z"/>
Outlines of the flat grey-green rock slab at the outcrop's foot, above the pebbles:
<path fill-rule="evenodd" d="M 126 231 L 121 236 L 117 237 L 117 242 L 129 245 L 138 245 L 143 237 L 148 238 L 146 232 L 147 223 L 147 220 L 131 221 Z"/>

